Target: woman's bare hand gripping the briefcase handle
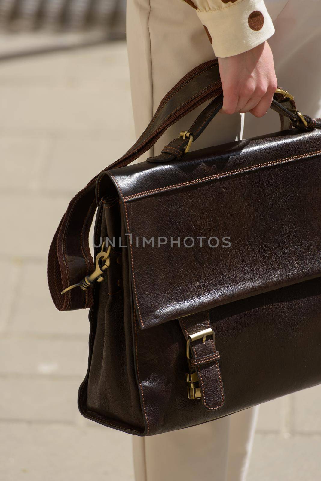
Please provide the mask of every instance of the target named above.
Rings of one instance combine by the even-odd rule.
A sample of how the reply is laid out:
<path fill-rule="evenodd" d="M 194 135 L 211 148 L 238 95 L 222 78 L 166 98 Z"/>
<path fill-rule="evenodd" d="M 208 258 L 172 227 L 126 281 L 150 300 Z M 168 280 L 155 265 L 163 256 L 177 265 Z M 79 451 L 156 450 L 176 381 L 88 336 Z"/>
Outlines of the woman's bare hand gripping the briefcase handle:
<path fill-rule="evenodd" d="M 224 95 L 222 112 L 265 115 L 277 88 L 269 44 L 264 42 L 239 55 L 219 58 L 219 68 Z"/>

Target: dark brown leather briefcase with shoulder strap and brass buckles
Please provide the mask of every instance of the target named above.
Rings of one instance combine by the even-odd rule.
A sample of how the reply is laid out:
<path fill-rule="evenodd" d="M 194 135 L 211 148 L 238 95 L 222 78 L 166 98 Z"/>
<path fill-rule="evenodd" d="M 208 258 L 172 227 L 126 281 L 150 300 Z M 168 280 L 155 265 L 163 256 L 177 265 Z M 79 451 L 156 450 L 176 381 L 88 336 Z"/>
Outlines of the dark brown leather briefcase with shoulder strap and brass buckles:
<path fill-rule="evenodd" d="M 159 156 L 127 166 L 211 98 Z M 106 426 L 157 434 L 321 383 L 321 121 L 278 89 L 281 132 L 188 152 L 221 106 L 217 61 L 203 63 L 52 241 L 56 307 L 90 307 L 79 409 Z"/>

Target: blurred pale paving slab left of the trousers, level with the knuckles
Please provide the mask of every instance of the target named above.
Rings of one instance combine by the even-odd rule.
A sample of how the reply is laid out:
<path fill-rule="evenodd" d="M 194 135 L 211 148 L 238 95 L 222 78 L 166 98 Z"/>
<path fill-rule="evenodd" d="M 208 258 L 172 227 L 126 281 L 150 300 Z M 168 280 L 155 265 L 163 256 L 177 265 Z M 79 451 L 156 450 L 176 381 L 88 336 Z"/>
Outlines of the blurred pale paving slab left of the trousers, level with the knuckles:
<path fill-rule="evenodd" d="M 2 106 L 0 103 L 0 127 L 4 132 L 21 129 L 43 133 L 67 129 L 106 133 L 113 119 L 119 118 L 120 102 L 127 106 L 125 114 L 131 105 L 130 93 L 121 85 L 114 86 L 112 95 L 106 92 L 106 88 L 100 86 L 99 89 L 95 84 L 89 89 L 74 86 L 15 89 L 4 86 L 1 96 L 5 99 Z"/>

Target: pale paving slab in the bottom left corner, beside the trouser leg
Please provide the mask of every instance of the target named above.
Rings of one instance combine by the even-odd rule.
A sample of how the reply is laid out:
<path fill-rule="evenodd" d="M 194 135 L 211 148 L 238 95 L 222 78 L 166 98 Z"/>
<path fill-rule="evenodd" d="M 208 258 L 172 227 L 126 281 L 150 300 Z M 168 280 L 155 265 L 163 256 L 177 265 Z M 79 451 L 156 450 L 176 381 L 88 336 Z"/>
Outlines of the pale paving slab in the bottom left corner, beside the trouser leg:
<path fill-rule="evenodd" d="M 3 481 L 133 481 L 131 436 L 68 425 L 0 423 Z"/>

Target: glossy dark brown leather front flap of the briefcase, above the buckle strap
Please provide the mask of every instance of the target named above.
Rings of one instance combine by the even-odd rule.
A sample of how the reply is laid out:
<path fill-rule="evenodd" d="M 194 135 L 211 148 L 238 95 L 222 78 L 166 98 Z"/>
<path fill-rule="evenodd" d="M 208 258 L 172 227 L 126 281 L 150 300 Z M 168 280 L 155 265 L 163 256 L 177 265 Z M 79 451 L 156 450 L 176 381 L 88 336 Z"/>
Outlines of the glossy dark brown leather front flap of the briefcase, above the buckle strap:
<path fill-rule="evenodd" d="M 319 277 L 320 158 L 291 130 L 111 170 L 141 327 Z"/>

